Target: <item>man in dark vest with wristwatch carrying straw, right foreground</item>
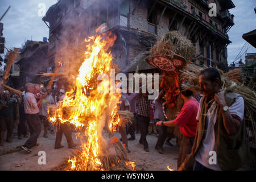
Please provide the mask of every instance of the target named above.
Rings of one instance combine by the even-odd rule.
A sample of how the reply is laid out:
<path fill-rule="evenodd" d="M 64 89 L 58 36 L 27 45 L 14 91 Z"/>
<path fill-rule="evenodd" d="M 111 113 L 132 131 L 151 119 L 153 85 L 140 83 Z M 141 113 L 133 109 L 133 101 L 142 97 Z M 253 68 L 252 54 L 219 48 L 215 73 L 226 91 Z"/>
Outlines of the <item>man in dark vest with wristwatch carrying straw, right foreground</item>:
<path fill-rule="evenodd" d="M 201 93 L 197 132 L 192 152 L 179 170 L 186 170 L 195 159 L 194 171 L 236 170 L 247 162 L 245 104 L 243 97 L 221 90 L 221 75 L 207 68 L 199 76 Z"/>

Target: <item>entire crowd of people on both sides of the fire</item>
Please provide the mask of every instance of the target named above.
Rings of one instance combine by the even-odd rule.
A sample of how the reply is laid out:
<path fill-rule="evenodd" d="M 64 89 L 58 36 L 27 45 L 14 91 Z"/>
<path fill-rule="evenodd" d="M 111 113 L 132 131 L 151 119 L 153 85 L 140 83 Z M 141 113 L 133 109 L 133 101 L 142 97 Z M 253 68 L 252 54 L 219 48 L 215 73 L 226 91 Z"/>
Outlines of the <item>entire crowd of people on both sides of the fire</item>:
<path fill-rule="evenodd" d="M 168 127 L 178 126 L 182 135 L 179 142 L 178 169 L 230 170 L 245 164 L 249 156 L 246 147 L 243 146 L 245 104 L 239 94 L 220 92 L 220 82 L 221 76 L 217 69 L 207 68 L 202 71 L 199 83 L 204 95 L 183 90 L 181 97 L 184 105 L 177 113 L 177 117 L 171 121 L 168 121 L 163 111 L 164 90 L 160 90 L 155 100 L 148 100 L 147 93 L 122 93 L 119 109 L 129 110 L 134 114 L 131 123 L 127 123 L 125 127 L 119 126 L 118 129 L 121 134 L 120 140 L 127 148 L 127 152 L 130 152 L 128 141 L 135 140 L 135 133 L 140 133 L 139 143 L 142 144 L 143 150 L 150 152 L 147 135 L 154 132 L 158 137 L 155 149 L 163 154 L 163 144 L 165 142 L 171 144 Z M 18 138 L 21 139 L 22 135 L 28 138 L 29 131 L 30 136 L 22 149 L 30 154 L 31 148 L 38 145 L 37 139 L 42 125 L 44 138 L 48 138 L 48 131 L 55 134 L 52 124 L 47 119 L 47 107 L 63 100 L 65 90 L 60 89 L 56 92 L 31 83 L 20 90 L 23 91 L 21 97 L 12 95 L 7 90 L 0 95 L 0 146 L 4 144 L 5 131 L 7 131 L 6 142 L 12 142 L 13 123 L 19 118 Z M 213 101 L 216 101 L 217 107 L 210 113 L 208 110 Z M 67 138 L 68 147 L 76 147 L 77 144 L 72 139 L 71 126 L 68 123 L 59 123 L 56 126 L 55 148 L 64 147 L 61 145 L 63 133 Z M 255 143 L 251 147 L 254 148 L 255 155 Z M 212 151 L 217 152 L 217 160 L 209 163 Z"/>

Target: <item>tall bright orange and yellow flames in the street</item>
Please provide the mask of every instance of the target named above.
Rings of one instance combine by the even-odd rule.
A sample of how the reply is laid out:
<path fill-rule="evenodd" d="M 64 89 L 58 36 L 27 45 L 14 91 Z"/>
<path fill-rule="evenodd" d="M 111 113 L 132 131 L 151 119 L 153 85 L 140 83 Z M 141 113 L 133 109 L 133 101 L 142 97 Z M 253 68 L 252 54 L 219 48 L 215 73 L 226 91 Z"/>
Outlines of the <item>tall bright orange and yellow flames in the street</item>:
<path fill-rule="evenodd" d="M 99 74 L 109 75 L 110 69 L 114 68 L 112 53 L 108 52 L 108 49 L 113 46 L 115 39 L 116 36 L 106 34 L 85 39 L 85 59 L 76 77 L 75 86 L 70 92 L 65 93 L 64 100 L 49 116 L 53 123 L 68 122 L 75 125 L 86 138 L 81 137 L 80 157 L 68 160 L 73 170 L 104 170 L 100 159 L 100 152 L 104 153 L 105 150 L 105 145 L 102 144 L 105 142 L 102 130 L 108 126 L 113 132 L 120 122 L 117 104 L 121 94 L 110 92 L 113 88 L 109 80 L 97 80 Z M 99 82 L 109 92 L 97 92 Z"/>

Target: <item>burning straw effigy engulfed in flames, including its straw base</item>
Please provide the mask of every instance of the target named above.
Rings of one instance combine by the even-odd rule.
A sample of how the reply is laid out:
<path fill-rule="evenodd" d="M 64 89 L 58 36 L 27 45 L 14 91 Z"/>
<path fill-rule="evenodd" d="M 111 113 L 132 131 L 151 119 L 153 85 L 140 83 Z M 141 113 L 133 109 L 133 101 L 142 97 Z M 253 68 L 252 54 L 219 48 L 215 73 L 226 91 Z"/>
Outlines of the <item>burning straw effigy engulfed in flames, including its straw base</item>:
<path fill-rule="evenodd" d="M 98 80 L 99 75 L 109 75 L 110 69 L 116 68 L 108 51 L 115 39 L 111 33 L 85 39 L 85 58 L 73 88 L 65 93 L 58 106 L 48 109 L 49 121 L 56 126 L 60 123 L 75 126 L 81 140 L 81 150 L 69 158 L 67 170 L 110 170 L 121 164 L 126 170 L 135 169 L 125 147 L 114 136 L 117 127 L 132 118 L 127 111 L 118 111 L 121 94 L 110 92 L 115 85 L 104 76 Z"/>

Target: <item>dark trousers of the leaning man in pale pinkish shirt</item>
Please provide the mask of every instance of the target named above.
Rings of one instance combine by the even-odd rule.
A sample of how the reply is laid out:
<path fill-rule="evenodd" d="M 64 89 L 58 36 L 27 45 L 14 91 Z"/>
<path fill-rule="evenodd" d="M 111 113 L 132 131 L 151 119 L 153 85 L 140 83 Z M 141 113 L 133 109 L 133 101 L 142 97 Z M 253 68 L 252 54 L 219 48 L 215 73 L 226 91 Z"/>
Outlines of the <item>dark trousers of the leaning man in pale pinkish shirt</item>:
<path fill-rule="evenodd" d="M 38 114 L 26 114 L 28 128 L 30 129 L 30 138 L 24 144 L 25 147 L 31 148 L 38 142 L 38 137 L 41 133 L 41 120 Z"/>

